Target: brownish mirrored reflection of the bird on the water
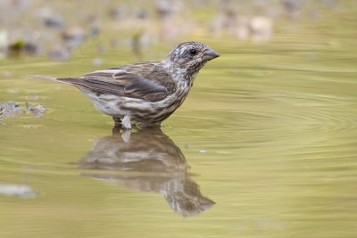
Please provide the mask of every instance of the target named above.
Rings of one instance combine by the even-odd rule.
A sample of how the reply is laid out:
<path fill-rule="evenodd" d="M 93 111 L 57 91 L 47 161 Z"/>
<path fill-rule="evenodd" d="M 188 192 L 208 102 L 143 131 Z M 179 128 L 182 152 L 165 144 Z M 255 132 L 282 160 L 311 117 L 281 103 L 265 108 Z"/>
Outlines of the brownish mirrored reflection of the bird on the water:
<path fill-rule="evenodd" d="M 170 208 L 183 216 L 199 215 L 215 204 L 201 194 L 199 185 L 190 178 L 184 154 L 160 128 L 138 129 L 128 136 L 125 130 L 114 127 L 113 135 L 95 142 L 93 150 L 79 161 L 79 168 L 121 171 L 86 176 L 161 193 Z"/>

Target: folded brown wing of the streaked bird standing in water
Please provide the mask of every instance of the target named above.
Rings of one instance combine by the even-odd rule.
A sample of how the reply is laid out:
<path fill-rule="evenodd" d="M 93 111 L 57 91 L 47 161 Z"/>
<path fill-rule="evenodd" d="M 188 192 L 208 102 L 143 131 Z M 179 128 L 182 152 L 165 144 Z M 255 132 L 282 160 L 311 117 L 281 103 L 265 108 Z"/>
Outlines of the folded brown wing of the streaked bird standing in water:
<path fill-rule="evenodd" d="M 57 78 L 63 83 L 100 94 L 116 94 L 157 102 L 175 91 L 170 75 L 157 63 L 138 63 L 110 70 L 98 70 L 75 78 Z"/>

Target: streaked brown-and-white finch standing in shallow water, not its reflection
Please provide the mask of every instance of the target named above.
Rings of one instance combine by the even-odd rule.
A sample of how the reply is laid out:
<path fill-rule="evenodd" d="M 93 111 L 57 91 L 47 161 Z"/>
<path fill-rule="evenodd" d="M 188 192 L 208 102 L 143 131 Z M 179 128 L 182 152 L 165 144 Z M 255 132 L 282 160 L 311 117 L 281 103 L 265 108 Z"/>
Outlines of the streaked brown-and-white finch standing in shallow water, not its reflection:
<path fill-rule="evenodd" d="M 77 86 L 89 97 L 95 108 L 112 116 L 115 125 L 131 129 L 161 126 L 187 98 L 195 78 L 206 62 L 220 54 L 208 45 L 188 41 L 177 45 L 160 62 L 138 62 L 96 70 L 80 78 L 32 78 Z"/>

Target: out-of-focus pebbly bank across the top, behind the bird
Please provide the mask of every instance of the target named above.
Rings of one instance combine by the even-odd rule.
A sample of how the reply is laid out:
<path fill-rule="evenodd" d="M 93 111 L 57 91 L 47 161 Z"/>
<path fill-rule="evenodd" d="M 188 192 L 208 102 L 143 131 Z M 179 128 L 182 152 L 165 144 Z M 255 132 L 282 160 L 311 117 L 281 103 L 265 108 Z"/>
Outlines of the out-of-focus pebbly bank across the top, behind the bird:
<path fill-rule="evenodd" d="M 47 56 L 70 61 L 88 47 L 103 55 L 130 49 L 137 58 L 157 45 L 192 38 L 237 44 L 315 40 L 336 43 L 328 34 L 353 35 L 355 1 L 37 1 L 0 3 L 0 57 Z M 294 35 L 295 34 L 295 35 Z M 312 34 L 312 36 L 309 36 Z M 292 35 L 294 37 L 292 37 Z"/>

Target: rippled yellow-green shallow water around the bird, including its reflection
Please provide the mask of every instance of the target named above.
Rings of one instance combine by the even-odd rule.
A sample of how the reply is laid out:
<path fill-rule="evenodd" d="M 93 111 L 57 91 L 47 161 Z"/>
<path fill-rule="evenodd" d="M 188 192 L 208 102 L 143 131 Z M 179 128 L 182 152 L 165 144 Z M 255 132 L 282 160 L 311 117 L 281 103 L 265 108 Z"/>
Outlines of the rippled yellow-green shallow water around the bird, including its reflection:
<path fill-rule="evenodd" d="M 91 43 L 68 63 L 3 61 L 0 102 L 47 111 L 0 125 L 0 183 L 32 192 L 0 193 L 0 236 L 355 237 L 353 32 L 267 45 L 202 39 L 221 57 L 162 132 L 130 136 L 113 133 L 76 88 L 26 78 L 134 62 L 128 52 L 99 67 Z"/>

